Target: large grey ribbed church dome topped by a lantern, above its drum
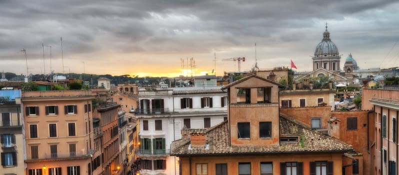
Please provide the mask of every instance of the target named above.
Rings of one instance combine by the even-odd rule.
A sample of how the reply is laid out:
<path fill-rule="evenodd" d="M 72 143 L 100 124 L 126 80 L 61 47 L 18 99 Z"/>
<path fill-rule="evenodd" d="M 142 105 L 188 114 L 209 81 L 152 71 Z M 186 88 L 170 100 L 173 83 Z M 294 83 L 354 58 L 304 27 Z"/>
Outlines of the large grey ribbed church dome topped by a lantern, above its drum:
<path fill-rule="evenodd" d="M 314 56 L 338 56 L 338 48 L 329 38 L 329 32 L 327 31 L 327 27 L 323 33 L 323 39 L 319 42 L 314 50 Z"/>

